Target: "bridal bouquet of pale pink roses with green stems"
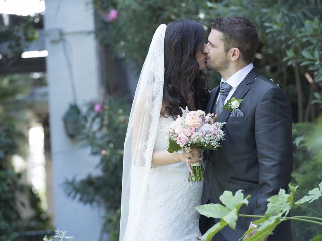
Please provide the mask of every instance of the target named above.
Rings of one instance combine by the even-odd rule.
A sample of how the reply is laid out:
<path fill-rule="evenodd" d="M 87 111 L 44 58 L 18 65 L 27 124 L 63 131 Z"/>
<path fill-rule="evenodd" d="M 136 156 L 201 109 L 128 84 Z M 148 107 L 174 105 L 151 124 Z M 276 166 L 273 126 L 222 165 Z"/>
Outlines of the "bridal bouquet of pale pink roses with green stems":
<path fill-rule="evenodd" d="M 178 115 L 172 123 L 167 137 L 169 138 L 168 152 L 183 152 L 190 147 L 217 150 L 220 141 L 224 140 L 222 126 L 225 123 L 217 122 L 217 116 L 206 114 L 202 110 L 189 111 L 182 109 L 182 116 Z M 202 161 L 192 163 L 193 174 L 189 172 L 188 181 L 197 182 L 205 179 Z"/>

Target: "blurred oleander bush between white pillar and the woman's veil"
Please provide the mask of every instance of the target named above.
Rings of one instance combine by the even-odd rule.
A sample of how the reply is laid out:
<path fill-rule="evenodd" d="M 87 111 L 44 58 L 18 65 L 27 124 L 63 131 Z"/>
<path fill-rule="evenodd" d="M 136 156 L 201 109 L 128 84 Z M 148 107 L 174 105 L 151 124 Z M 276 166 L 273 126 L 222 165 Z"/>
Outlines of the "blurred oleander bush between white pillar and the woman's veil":
<path fill-rule="evenodd" d="M 87 204 L 98 204 L 106 211 L 102 232 L 118 240 L 121 205 L 123 146 L 129 119 L 130 105 L 110 97 L 104 104 L 90 102 L 83 116 L 79 140 L 90 147 L 91 154 L 100 156 L 101 175 L 76 177 L 64 183 L 66 194 Z"/>

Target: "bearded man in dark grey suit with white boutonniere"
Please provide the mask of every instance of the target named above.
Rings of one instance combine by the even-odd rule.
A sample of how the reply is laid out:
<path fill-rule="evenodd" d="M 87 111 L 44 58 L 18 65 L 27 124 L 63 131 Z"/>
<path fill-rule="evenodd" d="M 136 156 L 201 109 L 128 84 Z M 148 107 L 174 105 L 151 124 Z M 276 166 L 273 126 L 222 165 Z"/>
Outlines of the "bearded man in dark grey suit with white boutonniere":
<path fill-rule="evenodd" d="M 207 68 L 222 76 L 220 86 L 210 92 L 206 112 L 218 114 L 225 140 L 218 151 L 205 153 L 206 180 L 201 204 L 221 203 L 224 190 L 251 194 L 240 213 L 263 215 L 267 199 L 287 191 L 293 166 L 292 119 L 284 92 L 260 75 L 252 61 L 257 49 L 256 27 L 244 17 L 218 18 L 211 23 L 207 44 Z M 222 110 L 227 100 L 243 99 L 233 111 Z M 215 241 L 236 241 L 258 218 L 239 218 L 236 230 L 228 226 Z M 219 220 L 201 216 L 204 234 Z M 291 240 L 290 222 L 282 222 L 265 240 Z"/>

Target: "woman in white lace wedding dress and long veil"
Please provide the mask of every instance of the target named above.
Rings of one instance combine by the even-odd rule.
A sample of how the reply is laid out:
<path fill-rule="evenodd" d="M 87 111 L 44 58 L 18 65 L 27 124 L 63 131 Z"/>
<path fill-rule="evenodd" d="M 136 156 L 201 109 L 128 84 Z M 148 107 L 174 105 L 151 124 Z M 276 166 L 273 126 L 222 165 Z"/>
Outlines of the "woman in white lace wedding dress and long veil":
<path fill-rule="evenodd" d="M 165 132 L 179 107 L 205 109 L 209 98 L 203 26 L 160 25 L 153 36 L 124 143 L 120 240 L 195 240 L 202 182 L 188 182 L 199 149 L 168 153 Z"/>

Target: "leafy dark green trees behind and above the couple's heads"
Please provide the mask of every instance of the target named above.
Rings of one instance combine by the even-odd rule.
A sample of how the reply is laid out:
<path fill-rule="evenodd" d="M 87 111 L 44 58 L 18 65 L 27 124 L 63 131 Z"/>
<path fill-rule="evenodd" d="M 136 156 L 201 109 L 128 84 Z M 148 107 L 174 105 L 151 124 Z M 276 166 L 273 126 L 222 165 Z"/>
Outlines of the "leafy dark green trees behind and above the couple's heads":
<path fill-rule="evenodd" d="M 322 104 L 320 1 L 95 0 L 94 3 L 103 16 L 98 28 L 101 41 L 116 57 L 133 61 L 137 72 L 159 24 L 190 18 L 205 26 L 207 36 L 213 18 L 246 16 L 257 26 L 260 36 L 255 66 L 288 94 L 294 119 L 308 121 L 319 112 L 312 103 Z M 104 14 L 111 9 L 117 9 L 118 16 L 109 21 Z M 218 75 L 210 71 L 207 75 L 210 80 L 218 80 Z"/>

